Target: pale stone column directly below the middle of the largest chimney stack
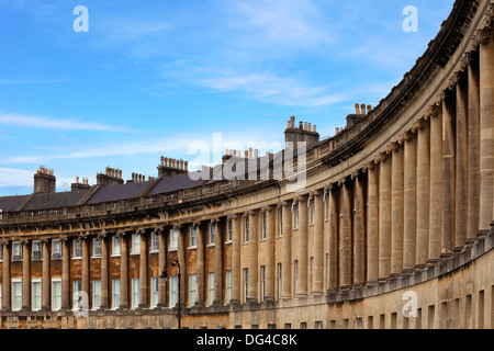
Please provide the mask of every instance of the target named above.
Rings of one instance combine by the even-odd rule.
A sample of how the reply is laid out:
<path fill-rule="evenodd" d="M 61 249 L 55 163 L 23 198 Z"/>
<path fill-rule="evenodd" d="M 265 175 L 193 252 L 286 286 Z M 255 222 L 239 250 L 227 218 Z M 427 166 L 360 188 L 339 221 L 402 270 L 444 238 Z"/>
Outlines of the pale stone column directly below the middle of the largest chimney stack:
<path fill-rule="evenodd" d="M 308 207 L 307 197 L 299 196 L 299 283 L 296 297 L 306 297 L 308 295 Z"/>

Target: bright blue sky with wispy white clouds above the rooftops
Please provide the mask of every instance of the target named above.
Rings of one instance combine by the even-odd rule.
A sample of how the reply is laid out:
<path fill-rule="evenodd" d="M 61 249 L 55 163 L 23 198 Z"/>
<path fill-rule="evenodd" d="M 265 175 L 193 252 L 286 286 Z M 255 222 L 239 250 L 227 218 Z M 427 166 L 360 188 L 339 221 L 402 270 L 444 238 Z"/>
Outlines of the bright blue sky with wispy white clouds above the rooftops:
<path fill-rule="evenodd" d="M 278 151 L 287 121 L 346 124 L 375 106 L 453 0 L 0 0 L 0 195 L 29 194 L 41 165 L 57 191 L 106 166 L 157 176 L 161 155 Z M 77 5 L 89 32 L 74 31 Z M 418 10 L 405 32 L 403 9 Z"/>

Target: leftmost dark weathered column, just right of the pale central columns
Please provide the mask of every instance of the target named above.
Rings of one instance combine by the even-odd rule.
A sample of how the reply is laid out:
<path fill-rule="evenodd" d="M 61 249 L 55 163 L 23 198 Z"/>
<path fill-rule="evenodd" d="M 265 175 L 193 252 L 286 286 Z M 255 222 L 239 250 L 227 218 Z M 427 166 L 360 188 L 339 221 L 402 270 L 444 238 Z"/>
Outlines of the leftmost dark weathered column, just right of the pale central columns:
<path fill-rule="evenodd" d="M 339 186 L 328 186 L 329 201 L 329 294 L 338 291 L 338 231 L 339 231 Z"/>

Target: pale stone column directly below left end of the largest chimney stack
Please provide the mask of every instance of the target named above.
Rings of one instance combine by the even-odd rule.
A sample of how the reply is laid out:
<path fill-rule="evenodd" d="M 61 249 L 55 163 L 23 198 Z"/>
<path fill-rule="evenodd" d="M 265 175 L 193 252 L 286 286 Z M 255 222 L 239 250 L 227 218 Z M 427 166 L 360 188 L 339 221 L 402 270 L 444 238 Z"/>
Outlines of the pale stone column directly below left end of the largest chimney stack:
<path fill-rule="evenodd" d="M 282 251 L 282 275 L 281 275 L 281 298 L 288 299 L 292 297 L 292 216 L 291 216 L 291 201 L 283 201 L 282 216 L 282 235 L 281 251 Z"/>

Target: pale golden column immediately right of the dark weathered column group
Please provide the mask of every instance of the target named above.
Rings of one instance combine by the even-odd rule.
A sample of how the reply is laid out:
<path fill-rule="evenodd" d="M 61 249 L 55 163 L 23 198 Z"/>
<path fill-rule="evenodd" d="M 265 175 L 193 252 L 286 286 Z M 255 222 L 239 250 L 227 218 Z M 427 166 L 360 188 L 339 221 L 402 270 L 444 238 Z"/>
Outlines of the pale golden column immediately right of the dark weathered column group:
<path fill-rule="evenodd" d="M 379 281 L 391 274 L 391 163 L 382 156 L 379 178 Z"/>

